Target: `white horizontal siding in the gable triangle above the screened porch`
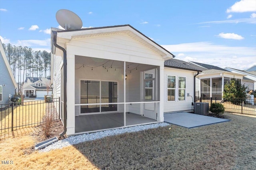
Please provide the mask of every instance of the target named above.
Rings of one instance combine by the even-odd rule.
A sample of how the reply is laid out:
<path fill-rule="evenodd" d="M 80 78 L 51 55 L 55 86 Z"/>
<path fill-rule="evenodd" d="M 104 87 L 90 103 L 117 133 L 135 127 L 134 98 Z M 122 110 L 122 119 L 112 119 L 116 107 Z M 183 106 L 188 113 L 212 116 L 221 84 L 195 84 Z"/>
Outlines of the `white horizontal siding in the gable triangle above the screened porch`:
<path fill-rule="evenodd" d="M 67 44 L 74 55 L 163 66 L 162 56 L 126 34 L 73 39 Z"/>

